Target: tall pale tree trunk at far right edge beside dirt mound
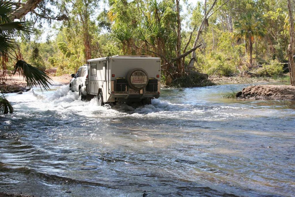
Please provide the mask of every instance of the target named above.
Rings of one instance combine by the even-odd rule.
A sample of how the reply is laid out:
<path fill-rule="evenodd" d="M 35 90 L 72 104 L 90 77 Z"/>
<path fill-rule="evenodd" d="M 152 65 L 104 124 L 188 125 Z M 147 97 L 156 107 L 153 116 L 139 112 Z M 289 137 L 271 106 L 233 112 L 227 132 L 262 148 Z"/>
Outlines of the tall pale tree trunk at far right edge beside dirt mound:
<path fill-rule="evenodd" d="M 289 10 L 289 23 L 290 23 L 290 43 L 287 49 L 288 65 L 290 71 L 291 85 L 295 85 L 295 64 L 294 64 L 294 44 L 295 44 L 295 33 L 294 33 L 294 19 L 293 19 L 293 6 L 291 0 L 288 1 Z"/>

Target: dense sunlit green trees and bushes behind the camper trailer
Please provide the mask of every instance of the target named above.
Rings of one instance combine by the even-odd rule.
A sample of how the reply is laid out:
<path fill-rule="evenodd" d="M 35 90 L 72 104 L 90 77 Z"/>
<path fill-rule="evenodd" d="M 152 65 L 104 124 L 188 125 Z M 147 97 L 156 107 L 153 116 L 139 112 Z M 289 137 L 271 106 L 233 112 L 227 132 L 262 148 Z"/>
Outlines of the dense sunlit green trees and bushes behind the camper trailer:
<path fill-rule="evenodd" d="M 198 28 L 213 3 L 209 0 L 204 6 L 204 1 L 181 1 L 181 53 L 193 48 Z M 151 55 L 161 57 L 163 65 L 171 62 L 162 67 L 165 83 L 179 80 L 179 69 L 173 69 L 176 62 L 171 61 L 177 57 L 176 1 L 75 0 L 59 5 L 68 15 L 62 22 L 51 23 L 56 32 L 53 37 L 41 42 L 39 31 L 34 41 L 20 41 L 25 60 L 40 69 L 57 68 L 57 74 L 70 74 L 87 58 Z M 212 12 L 198 40 L 201 47 L 196 49 L 195 70 L 226 76 L 245 70 L 261 76 L 283 72 L 280 63 L 286 62 L 289 43 L 286 1 L 220 0 Z M 190 60 L 190 54 L 183 58 L 186 71 L 191 69 Z"/>

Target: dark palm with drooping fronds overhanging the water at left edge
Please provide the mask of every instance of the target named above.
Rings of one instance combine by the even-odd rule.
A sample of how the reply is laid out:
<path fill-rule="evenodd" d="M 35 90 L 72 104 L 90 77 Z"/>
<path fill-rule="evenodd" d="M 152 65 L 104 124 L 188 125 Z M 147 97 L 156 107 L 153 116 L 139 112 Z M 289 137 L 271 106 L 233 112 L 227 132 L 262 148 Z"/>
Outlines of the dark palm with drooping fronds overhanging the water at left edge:
<path fill-rule="evenodd" d="M 27 86 L 39 85 L 41 89 L 49 89 L 50 77 L 45 72 L 31 66 L 23 60 L 19 60 L 12 55 L 12 51 L 17 48 L 15 40 L 16 36 L 28 36 L 32 31 L 29 22 L 17 22 L 10 19 L 10 15 L 16 11 L 16 7 L 12 1 L 0 0 L 0 58 L 12 58 L 17 63 L 14 66 L 13 74 L 19 72 L 24 76 Z M 2 93 L 0 96 L 0 112 L 12 113 L 12 105 L 6 100 L 5 95 Z"/>

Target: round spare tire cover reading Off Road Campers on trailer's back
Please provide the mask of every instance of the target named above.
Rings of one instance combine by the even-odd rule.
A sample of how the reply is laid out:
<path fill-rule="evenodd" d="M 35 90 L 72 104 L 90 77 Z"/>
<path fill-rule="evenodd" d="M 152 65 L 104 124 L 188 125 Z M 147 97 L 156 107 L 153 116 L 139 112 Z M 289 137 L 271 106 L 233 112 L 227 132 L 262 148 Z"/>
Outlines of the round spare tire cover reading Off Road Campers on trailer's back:
<path fill-rule="evenodd" d="M 148 84 L 148 73 L 142 68 L 132 69 L 127 74 L 129 87 L 134 90 L 140 90 Z"/>

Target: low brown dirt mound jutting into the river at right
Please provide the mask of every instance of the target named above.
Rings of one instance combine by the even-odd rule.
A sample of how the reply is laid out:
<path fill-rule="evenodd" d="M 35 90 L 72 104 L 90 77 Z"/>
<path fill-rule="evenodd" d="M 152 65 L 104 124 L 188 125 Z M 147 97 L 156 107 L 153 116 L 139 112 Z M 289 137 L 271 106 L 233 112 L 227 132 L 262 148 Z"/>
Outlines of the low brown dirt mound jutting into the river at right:
<path fill-rule="evenodd" d="M 295 86 L 291 85 L 256 85 L 237 92 L 238 99 L 259 100 L 295 100 Z"/>

